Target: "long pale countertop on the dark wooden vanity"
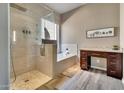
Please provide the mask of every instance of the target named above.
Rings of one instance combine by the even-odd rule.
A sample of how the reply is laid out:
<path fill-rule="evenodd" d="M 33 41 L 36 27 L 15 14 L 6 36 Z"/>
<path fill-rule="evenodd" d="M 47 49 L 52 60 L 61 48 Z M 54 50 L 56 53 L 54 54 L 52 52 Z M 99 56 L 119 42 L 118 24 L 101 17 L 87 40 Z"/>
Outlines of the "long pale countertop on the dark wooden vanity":
<path fill-rule="evenodd" d="M 120 50 L 113 50 L 113 49 L 111 49 L 111 48 L 81 48 L 80 50 L 123 53 L 123 49 L 120 49 Z"/>

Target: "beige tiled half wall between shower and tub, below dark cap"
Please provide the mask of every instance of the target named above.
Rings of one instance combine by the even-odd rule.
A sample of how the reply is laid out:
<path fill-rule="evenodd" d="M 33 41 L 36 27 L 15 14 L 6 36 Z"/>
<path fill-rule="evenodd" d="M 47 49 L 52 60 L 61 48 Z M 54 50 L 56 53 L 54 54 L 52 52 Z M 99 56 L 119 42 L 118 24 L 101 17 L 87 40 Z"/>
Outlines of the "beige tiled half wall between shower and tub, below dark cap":
<path fill-rule="evenodd" d="M 40 47 L 41 46 L 37 46 L 37 60 L 35 61 L 36 68 L 42 73 L 53 78 L 55 71 L 55 62 L 57 58 L 57 46 L 54 44 L 45 44 L 44 56 L 41 56 L 40 54 Z"/>

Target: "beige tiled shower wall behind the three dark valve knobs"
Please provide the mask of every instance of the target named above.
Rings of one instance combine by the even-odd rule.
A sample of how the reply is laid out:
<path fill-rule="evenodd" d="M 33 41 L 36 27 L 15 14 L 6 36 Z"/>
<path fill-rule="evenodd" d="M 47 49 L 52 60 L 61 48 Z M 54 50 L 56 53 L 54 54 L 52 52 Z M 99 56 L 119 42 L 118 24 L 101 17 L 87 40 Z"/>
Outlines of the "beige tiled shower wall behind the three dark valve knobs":
<path fill-rule="evenodd" d="M 28 11 L 22 12 L 11 8 L 11 61 L 13 61 L 16 75 L 36 69 L 37 43 L 36 30 L 40 18 L 50 11 L 37 4 L 19 4 Z M 24 29 L 31 34 L 24 34 Z M 16 31 L 16 42 L 13 42 L 13 31 Z M 11 67 L 12 72 L 12 67 Z M 11 73 L 13 76 L 13 73 Z"/>

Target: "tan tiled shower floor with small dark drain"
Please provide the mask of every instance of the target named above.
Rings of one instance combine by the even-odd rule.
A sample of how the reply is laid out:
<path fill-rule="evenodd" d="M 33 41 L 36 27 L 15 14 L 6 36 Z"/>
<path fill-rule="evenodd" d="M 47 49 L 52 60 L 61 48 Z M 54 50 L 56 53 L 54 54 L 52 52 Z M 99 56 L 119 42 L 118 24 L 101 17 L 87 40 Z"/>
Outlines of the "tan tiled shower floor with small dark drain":
<path fill-rule="evenodd" d="M 16 81 L 11 84 L 10 89 L 14 90 L 34 90 L 47 83 L 52 78 L 33 70 L 17 76 Z"/>

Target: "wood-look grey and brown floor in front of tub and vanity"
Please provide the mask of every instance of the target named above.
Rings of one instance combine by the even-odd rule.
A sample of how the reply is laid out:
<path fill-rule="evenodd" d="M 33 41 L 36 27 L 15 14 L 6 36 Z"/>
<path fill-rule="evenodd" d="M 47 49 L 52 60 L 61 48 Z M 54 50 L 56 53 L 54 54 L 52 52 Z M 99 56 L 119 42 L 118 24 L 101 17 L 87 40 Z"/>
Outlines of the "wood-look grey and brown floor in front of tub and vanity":
<path fill-rule="evenodd" d="M 70 72 L 70 73 L 69 73 Z M 121 80 L 106 75 L 105 71 L 90 69 L 80 70 L 80 66 L 73 66 L 39 90 L 123 90 Z"/>

